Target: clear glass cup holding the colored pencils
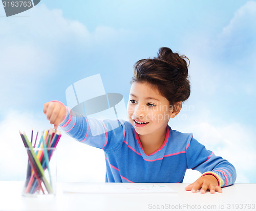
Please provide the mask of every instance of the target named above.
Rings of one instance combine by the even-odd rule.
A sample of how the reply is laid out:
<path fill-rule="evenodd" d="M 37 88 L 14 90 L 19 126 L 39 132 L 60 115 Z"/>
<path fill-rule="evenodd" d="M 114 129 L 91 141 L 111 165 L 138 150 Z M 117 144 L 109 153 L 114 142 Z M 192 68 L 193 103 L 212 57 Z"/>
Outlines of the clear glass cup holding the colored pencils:
<path fill-rule="evenodd" d="M 56 148 L 25 149 L 27 152 L 27 175 L 22 190 L 22 195 L 56 195 Z"/>

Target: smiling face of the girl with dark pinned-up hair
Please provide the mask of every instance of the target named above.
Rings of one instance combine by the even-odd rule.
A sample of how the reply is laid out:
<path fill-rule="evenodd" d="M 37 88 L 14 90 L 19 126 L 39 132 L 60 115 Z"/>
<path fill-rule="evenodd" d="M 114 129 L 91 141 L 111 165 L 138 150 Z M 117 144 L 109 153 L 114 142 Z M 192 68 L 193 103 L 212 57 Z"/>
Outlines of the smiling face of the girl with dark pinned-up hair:
<path fill-rule="evenodd" d="M 174 118 L 169 101 L 147 82 L 131 85 L 127 116 L 140 135 L 165 130 L 170 118 Z"/>

